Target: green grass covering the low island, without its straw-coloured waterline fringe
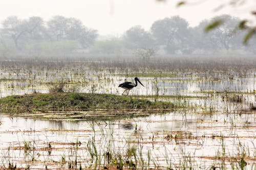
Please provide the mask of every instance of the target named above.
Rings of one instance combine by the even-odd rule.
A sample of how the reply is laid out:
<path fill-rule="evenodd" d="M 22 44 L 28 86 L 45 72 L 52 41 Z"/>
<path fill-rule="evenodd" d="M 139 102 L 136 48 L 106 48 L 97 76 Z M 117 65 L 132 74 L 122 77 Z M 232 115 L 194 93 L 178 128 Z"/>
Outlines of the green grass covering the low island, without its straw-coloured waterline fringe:
<path fill-rule="evenodd" d="M 88 111 L 106 110 L 172 110 L 180 106 L 169 102 L 151 102 L 138 99 L 95 93 L 34 93 L 12 95 L 0 99 L 2 113 L 33 113 L 35 111 Z"/>

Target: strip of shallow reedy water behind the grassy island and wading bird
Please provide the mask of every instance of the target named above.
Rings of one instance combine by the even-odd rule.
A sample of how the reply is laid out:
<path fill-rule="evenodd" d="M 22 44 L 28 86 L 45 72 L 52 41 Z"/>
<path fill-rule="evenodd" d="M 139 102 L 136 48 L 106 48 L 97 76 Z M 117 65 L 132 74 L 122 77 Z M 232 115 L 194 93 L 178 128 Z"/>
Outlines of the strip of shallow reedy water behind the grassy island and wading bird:
<path fill-rule="evenodd" d="M 120 70 L 71 69 L 24 71 L 14 74 L 13 70 L 0 70 L 0 97 L 7 95 L 31 93 L 33 91 L 46 93 L 50 83 L 65 80 L 66 91 L 121 94 L 118 85 L 124 81 L 134 81 Z M 239 72 L 175 72 L 172 77 L 154 78 L 140 77 L 140 84 L 130 91 L 133 95 L 190 95 L 202 96 L 214 91 L 236 91 L 253 93 L 256 89 L 256 72 L 240 75 Z"/>

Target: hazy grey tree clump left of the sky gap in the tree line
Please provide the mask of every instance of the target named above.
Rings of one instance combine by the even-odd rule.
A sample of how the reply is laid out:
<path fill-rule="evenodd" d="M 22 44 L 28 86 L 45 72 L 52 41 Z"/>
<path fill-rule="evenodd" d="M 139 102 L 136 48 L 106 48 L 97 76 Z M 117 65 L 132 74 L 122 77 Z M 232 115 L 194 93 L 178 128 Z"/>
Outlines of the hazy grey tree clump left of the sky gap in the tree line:
<path fill-rule="evenodd" d="M 2 22 L 0 35 L 2 53 L 52 54 L 86 49 L 98 34 L 77 18 L 54 16 L 46 22 L 38 16 L 9 16 Z"/>

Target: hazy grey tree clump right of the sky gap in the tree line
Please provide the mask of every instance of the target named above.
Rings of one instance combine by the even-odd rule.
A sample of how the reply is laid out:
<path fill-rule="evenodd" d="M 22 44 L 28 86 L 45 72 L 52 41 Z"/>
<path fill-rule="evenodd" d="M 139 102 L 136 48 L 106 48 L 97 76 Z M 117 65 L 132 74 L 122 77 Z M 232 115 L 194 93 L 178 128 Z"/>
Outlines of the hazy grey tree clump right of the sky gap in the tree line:
<path fill-rule="evenodd" d="M 224 20 L 222 25 L 207 32 L 206 28 L 219 19 Z M 239 23 L 239 18 L 221 15 L 201 21 L 197 27 L 189 27 L 184 18 L 166 17 L 155 21 L 149 31 L 145 31 L 141 26 L 135 26 L 115 41 L 122 41 L 123 46 L 129 50 L 150 48 L 163 54 L 255 54 L 255 36 L 247 45 L 243 44 L 246 31 L 239 28 Z M 108 48 L 108 51 L 110 50 L 111 48 Z"/>

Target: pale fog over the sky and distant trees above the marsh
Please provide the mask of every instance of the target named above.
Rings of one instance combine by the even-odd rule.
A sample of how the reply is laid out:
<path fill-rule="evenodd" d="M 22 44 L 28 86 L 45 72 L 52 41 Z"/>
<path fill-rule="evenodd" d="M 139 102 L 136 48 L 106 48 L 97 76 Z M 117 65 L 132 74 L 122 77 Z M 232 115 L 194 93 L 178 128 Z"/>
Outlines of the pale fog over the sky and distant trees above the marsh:
<path fill-rule="evenodd" d="M 178 1 L 44 2 L 0 3 L 5 7 L 0 12 L 1 58 L 134 56 L 146 60 L 256 53 L 255 37 L 245 44 L 248 30 L 238 29 L 244 18 L 251 18 L 248 11 L 254 3 L 190 1 L 177 7 Z M 205 32 L 220 19 L 222 25 Z"/>

